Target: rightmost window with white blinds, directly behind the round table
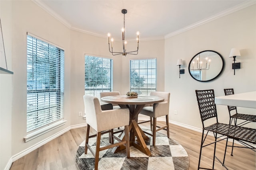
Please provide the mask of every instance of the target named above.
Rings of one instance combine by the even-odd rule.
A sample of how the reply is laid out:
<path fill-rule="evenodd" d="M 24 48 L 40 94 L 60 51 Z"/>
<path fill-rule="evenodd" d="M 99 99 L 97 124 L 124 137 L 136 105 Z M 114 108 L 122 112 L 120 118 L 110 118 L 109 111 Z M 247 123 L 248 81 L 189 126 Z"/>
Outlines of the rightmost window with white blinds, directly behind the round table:
<path fill-rule="evenodd" d="M 156 59 L 130 60 L 130 91 L 139 95 L 156 91 Z"/>

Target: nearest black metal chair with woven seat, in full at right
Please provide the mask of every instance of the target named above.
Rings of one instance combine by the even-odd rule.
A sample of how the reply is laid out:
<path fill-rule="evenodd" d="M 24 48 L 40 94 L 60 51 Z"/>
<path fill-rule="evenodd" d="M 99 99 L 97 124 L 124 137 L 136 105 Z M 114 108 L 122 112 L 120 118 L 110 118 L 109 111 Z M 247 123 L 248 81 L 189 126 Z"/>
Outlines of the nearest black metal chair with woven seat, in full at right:
<path fill-rule="evenodd" d="M 200 116 L 202 120 L 202 140 L 201 140 L 201 147 L 200 147 L 200 154 L 199 154 L 199 161 L 198 161 L 198 170 L 199 169 L 214 169 L 214 162 L 215 158 L 226 168 L 224 165 L 225 156 L 226 156 L 226 149 L 228 146 L 228 138 L 234 139 L 236 141 L 239 141 L 242 145 L 244 145 L 243 148 L 249 148 L 255 151 L 255 147 L 250 144 L 256 144 L 256 129 L 242 127 L 242 126 L 235 126 L 230 124 L 224 124 L 218 122 L 217 117 L 217 110 L 216 105 L 214 103 L 214 90 L 196 90 L 196 98 L 198 102 L 198 107 L 200 111 Z M 212 125 L 205 126 L 204 121 L 210 118 L 215 118 L 216 123 Z M 204 137 L 204 132 L 206 131 L 206 135 Z M 215 141 L 212 143 L 204 144 L 205 139 L 209 132 L 212 132 L 215 138 Z M 218 139 L 218 141 L 217 141 Z M 216 143 L 222 140 L 226 141 L 226 147 L 224 152 L 224 158 L 223 162 L 220 161 L 215 155 L 216 153 Z M 202 168 L 200 167 L 200 159 L 202 154 L 202 148 L 206 147 L 208 145 L 214 144 L 214 156 L 213 156 L 213 163 L 212 168 Z"/>

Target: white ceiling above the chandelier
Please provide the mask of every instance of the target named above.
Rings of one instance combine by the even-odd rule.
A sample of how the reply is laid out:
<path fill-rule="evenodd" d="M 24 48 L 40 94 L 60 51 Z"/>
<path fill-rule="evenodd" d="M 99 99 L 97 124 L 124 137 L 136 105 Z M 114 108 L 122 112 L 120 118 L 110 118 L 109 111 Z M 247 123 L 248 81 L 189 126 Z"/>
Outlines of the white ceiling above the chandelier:
<path fill-rule="evenodd" d="M 34 0 L 71 29 L 101 37 L 164 39 L 252 4 L 255 0 Z M 216 25 L 220 26 L 220 25 Z"/>

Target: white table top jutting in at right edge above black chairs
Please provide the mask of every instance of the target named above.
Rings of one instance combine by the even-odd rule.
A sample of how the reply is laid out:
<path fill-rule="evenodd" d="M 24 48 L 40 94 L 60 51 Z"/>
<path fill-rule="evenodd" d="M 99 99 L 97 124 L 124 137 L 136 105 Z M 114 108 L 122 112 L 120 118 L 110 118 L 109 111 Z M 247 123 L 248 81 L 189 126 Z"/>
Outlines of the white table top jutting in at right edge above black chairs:
<path fill-rule="evenodd" d="M 256 91 L 215 97 L 215 104 L 256 108 Z"/>

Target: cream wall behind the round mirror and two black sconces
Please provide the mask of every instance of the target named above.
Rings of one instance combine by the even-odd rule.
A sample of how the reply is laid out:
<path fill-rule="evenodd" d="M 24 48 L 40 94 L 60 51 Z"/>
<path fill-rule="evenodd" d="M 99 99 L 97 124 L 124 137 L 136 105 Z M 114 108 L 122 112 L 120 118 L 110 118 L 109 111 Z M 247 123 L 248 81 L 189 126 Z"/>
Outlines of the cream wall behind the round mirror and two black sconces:
<path fill-rule="evenodd" d="M 233 47 L 240 49 L 242 56 L 236 61 L 241 63 L 241 69 L 236 70 L 236 75 L 232 70 L 233 61 L 228 58 Z M 196 81 L 188 72 L 192 57 L 204 50 L 217 51 L 225 61 L 223 73 L 210 82 Z M 176 66 L 178 59 L 186 63 L 185 74 L 181 74 L 180 78 Z M 256 5 L 166 39 L 165 91 L 171 93 L 169 119 L 201 129 L 195 90 L 214 89 L 215 96 L 224 96 L 224 88 L 234 88 L 235 93 L 255 91 L 255 63 Z M 214 65 L 211 63 L 211 66 Z M 174 110 L 178 111 L 177 115 L 174 115 Z M 227 106 L 219 105 L 217 111 L 219 121 L 228 123 Z M 246 113 L 256 114 L 256 110 L 246 109 Z"/>

